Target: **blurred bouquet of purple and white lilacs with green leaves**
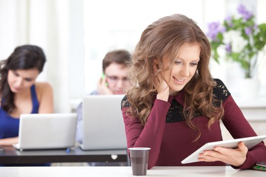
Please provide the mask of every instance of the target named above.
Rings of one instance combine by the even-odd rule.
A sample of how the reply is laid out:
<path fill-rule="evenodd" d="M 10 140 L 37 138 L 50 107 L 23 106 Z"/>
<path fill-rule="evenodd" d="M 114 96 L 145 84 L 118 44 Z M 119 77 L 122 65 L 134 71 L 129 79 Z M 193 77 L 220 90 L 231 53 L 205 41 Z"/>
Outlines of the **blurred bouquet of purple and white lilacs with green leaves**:
<path fill-rule="evenodd" d="M 212 22 L 208 33 L 212 56 L 219 63 L 220 57 L 238 62 L 250 78 L 257 63 L 258 52 L 266 42 L 266 24 L 256 24 L 254 15 L 244 5 L 238 8 L 239 18 L 228 16 L 223 23 Z"/>

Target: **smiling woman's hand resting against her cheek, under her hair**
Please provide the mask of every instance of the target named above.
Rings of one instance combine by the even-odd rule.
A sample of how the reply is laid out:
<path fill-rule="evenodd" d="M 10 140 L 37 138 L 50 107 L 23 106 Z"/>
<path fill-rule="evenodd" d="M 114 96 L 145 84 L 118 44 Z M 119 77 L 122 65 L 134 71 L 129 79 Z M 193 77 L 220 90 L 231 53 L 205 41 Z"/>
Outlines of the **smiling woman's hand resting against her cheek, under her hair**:
<path fill-rule="evenodd" d="M 157 65 L 155 65 L 154 67 L 154 73 L 156 73 L 158 70 Z M 154 77 L 154 86 L 155 89 L 157 90 L 157 99 L 160 100 L 164 100 L 164 101 L 168 101 L 168 97 L 169 97 L 169 85 L 167 84 L 167 82 L 165 81 L 162 73 L 158 73 L 155 77 Z"/>

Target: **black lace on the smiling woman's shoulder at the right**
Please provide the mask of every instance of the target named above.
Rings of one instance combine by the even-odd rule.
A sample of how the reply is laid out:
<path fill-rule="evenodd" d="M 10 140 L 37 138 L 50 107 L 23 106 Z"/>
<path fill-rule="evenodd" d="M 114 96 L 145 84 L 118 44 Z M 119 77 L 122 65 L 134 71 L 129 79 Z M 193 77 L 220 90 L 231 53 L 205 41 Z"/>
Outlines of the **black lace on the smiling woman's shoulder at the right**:
<path fill-rule="evenodd" d="M 216 82 L 216 86 L 213 88 L 213 94 L 216 96 L 216 99 L 224 101 L 231 94 L 220 79 L 213 79 Z"/>

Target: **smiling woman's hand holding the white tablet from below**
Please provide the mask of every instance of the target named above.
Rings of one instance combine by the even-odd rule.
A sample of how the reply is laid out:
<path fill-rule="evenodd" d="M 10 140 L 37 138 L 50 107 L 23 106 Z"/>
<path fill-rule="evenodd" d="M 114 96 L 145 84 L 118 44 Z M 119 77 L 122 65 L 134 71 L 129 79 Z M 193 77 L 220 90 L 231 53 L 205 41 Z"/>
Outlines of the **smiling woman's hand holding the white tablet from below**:
<path fill-rule="evenodd" d="M 215 147 L 213 151 L 204 151 L 200 154 L 199 161 L 222 161 L 230 165 L 241 166 L 246 160 L 247 152 L 248 148 L 241 142 L 236 149 Z"/>

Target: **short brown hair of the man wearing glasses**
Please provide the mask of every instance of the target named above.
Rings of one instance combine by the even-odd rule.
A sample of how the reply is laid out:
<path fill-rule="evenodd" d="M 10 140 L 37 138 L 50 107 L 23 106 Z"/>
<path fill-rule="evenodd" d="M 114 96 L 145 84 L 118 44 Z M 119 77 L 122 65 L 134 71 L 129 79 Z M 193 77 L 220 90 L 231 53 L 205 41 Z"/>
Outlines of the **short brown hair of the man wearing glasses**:
<path fill-rule="evenodd" d="M 131 60 L 131 54 L 126 50 L 116 50 L 108 52 L 102 60 L 102 71 L 105 72 L 105 68 L 111 63 L 117 63 L 127 66 L 127 63 Z"/>

